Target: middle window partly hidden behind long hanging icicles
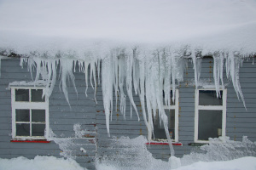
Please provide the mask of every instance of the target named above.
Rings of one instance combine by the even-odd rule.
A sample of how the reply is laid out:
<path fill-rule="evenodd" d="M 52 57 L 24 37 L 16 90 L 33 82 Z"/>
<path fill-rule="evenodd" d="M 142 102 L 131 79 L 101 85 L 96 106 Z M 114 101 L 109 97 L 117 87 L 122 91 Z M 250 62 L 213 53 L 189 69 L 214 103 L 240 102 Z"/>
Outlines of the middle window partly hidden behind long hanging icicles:
<path fill-rule="evenodd" d="M 178 141 L 178 89 L 175 90 L 175 100 L 172 101 L 172 90 L 171 90 L 171 105 L 164 105 L 166 116 L 168 116 L 168 128 L 170 138 L 174 141 Z M 165 96 L 165 94 L 163 94 Z M 160 123 L 158 112 L 154 119 L 154 139 L 155 140 L 166 140 L 166 132 L 163 123 Z"/>

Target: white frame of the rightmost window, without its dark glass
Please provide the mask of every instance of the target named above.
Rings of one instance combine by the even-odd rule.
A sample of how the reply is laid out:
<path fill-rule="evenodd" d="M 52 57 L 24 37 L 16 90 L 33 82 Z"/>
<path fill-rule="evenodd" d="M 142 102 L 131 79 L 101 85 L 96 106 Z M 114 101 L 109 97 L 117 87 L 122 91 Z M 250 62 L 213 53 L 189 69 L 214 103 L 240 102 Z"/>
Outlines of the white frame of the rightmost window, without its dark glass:
<path fill-rule="evenodd" d="M 195 143 L 209 143 L 209 140 L 200 140 L 198 139 L 198 124 L 199 124 L 199 116 L 198 113 L 200 110 L 207 111 L 222 111 L 222 137 L 226 136 L 226 115 L 227 115 L 227 89 L 220 89 L 222 91 L 222 105 L 199 105 L 199 91 L 215 91 L 215 88 L 201 88 L 195 89 Z"/>

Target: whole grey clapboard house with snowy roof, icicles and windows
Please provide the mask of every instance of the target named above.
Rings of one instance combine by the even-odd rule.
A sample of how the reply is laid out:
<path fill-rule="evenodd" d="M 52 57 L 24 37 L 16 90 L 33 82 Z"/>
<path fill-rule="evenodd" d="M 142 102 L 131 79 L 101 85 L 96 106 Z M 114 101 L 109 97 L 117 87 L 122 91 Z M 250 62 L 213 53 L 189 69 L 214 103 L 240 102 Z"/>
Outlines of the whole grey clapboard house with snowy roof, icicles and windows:
<path fill-rule="evenodd" d="M 94 169 L 96 161 L 132 160 L 142 145 L 154 158 L 167 161 L 170 156 L 189 154 L 211 138 L 219 138 L 220 144 L 226 137 L 256 140 L 254 2 L 219 5 L 219 1 L 212 1 L 209 4 L 213 7 L 209 8 L 209 4 L 196 1 L 191 4 L 193 10 L 184 3 L 172 6 L 165 1 L 140 2 L 156 23 L 152 26 L 153 22 L 146 22 L 145 27 L 138 24 L 140 18 L 131 20 L 134 17 L 130 18 L 127 9 L 132 3 L 125 3 L 129 8 L 119 3 L 120 8 L 113 8 L 101 2 L 102 7 L 114 9 L 110 14 L 104 13 L 104 8 L 96 8 L 95 3 L 85 1 L 83 5 L 86 3 L 88 10 L 79 3 L 66 3 L 58 5 L 64 5 L 64 9 L 75 5 L 76 12 L 90 12 L 91 20 L 72 18 L 75 26 L 85 23 L 85 33 L 76 27 L 65 30 L 63 23 L 59 23 L 60 28 L 55 20 L 49 20 L 47 16 L 55 14 L 56 4 L 44 11 L 31 2 L 28 7 L 38 10 L 27 13 L 19 13 L 27 8 L 23 3 L 4 2 L 0 7 L 0 20 L 4 21 L 0 30 L 1 158 L 61 156 Z M 4 13 L 10 6 L 16 9 L 13 15 Z M 153 6 L 160 17 L 151 14 Z M 141 12 L 140 7 L 133 7 L 135 14 Z M 183 14 L 182 10 L 175 10 L 177 7 L 186 8 L 193 19 L 205 16 L 205 12 L 198 12 L 201 8 L 209 8 L 211 22 L 199 17 L 191 24 L 191 20 L 183 20 L 187 14 L 174 20 L 176 16 L 169 14 L 172 10 L 166 7 L 172 7 L 176 16 Z M 230 14 L 224 12 L 227 8 Z M 119 14 L 119 9 L 125 11 L 120 14 L 123 19 L 130 19 L 127 23 L 117 17 L 114 21 L 120 21 L 119 26 L 108 29 L 99 25 L 106 20 L 111 25 L 111 17 Z M 49 15 L 42 15 L 42 11 Z M 103 12 L 97 15 L 99 11 Z M 214 17 L 217 12 L 219 15 Z M 8 14 L 10 21 L 20 20 L 22 15 L 24 22 L 14 27 L 1 18 L 2 13 Z M 34 14 L 39 21 L 31 20 Z M 66 20 L 65 17 L 61 19 Z M 147 21 L 148 15 L 142 18 Z M 167 26 L 166 20 L 170 21 Z M 44 28 L 48 26 L 43 26 L 44 22 L 49 27 Z M 87 23 L 92 26 L 86 27 Z M 192 26 L 187 27 L 187 23 Z M 122 24 L 127 26 L 125 30 Z M 134 25 L 137 27 L 133 30 Z M 55 35 L 55 30 L 60 30 L 60 35 Z M 134 38 L 136 43 L 104 38 L 98 41 L 98 34 L 107 40 L 120 35 L 124 41 Z M 131 150 L 128 137 L 144 139 Z M 122 145 L 120 141 L 126 143 Z"/>

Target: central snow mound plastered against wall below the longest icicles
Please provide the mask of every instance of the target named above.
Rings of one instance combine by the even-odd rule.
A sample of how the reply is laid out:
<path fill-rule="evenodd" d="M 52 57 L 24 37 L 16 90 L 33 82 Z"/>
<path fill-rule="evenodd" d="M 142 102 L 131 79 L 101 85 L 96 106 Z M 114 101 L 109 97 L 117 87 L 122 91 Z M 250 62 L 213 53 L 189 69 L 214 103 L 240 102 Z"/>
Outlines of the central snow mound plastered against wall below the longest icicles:
<path fill-rule="evenodd" d="M 167 161 L 154 159 L 146 147 L 147 141 L 143 136 L 135 139 L 111 139 L 107 146 L 111 150 L 108 152 L 110 154 L 96 156 L 96 169 L 170 169 Z"/>

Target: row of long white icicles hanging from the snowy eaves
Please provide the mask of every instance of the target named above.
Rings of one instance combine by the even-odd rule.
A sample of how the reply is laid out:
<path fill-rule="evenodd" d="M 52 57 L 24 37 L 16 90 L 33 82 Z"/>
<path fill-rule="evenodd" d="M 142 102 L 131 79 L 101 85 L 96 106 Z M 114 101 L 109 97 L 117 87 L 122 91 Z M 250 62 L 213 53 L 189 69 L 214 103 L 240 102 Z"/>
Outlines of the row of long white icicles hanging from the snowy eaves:
<path fill-rule="evenodd" d="M 102 96 L 106 115 L 106 125 L 109 132 L 109 121 L 113 113 L 113 94 L 115 95 L 116 105 L 119 102 L 120 112 L 125 117 L 126 99 L 131 103 L 136 112 L 138 121 L 139 116 L 137 106 L 133 99 L 138 95 L 143 111 L 143 120 L 148 128 L 148 139 L 154 135 L 153 119 L 158 110 L 160 120 L 163 123 L 166 134 L 168 132 L 168 120 L 164 111 L 164 105 L 171 105 L 170 91 L 175 91 L 179 82 L 183 82 L 183 72 L 187 59 L 192 59 L 195 70 L 195 87 L 198 87 L 201 74 L 201 60 L 205 55 L 211 55 L 214 60 L 213 78 L 217 96 L 219 90 L 224 88 L 224 71 L 226 77 L 231 80 L 238 98 L 241 98 L 245 105 L 239 82 L 239 68 L 245 57 L 252 54 L 239 54 L 230 51 L 203 52 L 200 49 L 188 47 L 183 48 L 157 48 L 155 50 L 143 50 L 143 48 L 114 48 L 103 56 L 88 54 L 85 57 L 74 58 L 73 55 L 58 54 L 55 58 L 39 56 L 33 54 L 28 58 L 21 58 L 20 65 L 27 63 L 28 71 L 36 71 L 34 82 L 43 79 L 47 86 L 45 96 L 49 97 L 55 87 L 57 72 L 61 78 L 60 89 L 63 91 L 67 103 L 67 81 L 72 82 L 76 90 L 75 77 L 73 72 L 80 71 L 85 77 L 85 95 L 88 88 L 88 75 L 90 74 L 90 84 L 96 90 L 99 83 L 100 72 L 102 73 Z M 97 57 L 96 57 L 97 56 Z M 225 61 L 225 62 L 224 62 Z M 90 70 L 89 70 L 90 67 Z M 60 71 L 58 71 L 58 68 Z M 101 71 L 102 69 L 102 71 Z M 96 77 L 98 81 L 96 82 Z M 33 79 L 33 75 L 32 75 Z M 163 92 L 166 94 L 163 98 Z M 173 93 L 172 100 L 175 99 Z M 169 135 L 166 135 L 171 143 Z M 170 144 L 172 150 L 172 144 Z M 172 150 L 172 156 L 174 151 Z"/>

